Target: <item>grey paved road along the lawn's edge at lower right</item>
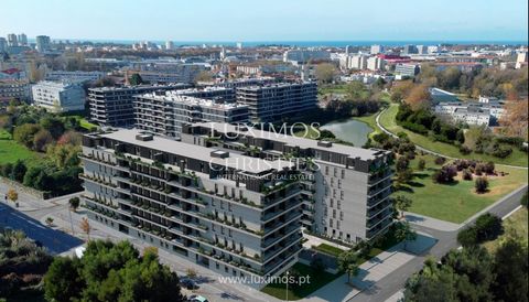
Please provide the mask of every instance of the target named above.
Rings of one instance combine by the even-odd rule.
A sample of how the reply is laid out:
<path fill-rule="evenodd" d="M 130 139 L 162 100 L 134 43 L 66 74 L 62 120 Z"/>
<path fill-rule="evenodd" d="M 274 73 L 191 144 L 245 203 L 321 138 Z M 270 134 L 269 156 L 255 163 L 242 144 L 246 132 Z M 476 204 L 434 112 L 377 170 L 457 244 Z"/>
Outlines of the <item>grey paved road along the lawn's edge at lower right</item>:
<path fill-rule="evenodd" d="M 492 207 L 487 208 L 486 212 L 493 213 L 499 217 L 504 217 L 509 214 L 512 209 L 517 208 L 520 204 L 521 196 L 527 191 L 527 186 L 515 191 L 514 193 L 507 195 L 504 201 L 500 203 L 494 204 Z M 472 224 L 481 215 L 478 213 L 471 217 L 468 220 L 463 223 L 460 226 L 460 229 L 465 225 Z M 396 292 L 401 290 L 404 287 L 406 280 L 413 274 L 414 272 L 421 270 L 424 260 L 429 256 L 434 256 L 436 259 L 440 259 L 451 249 L 457 248 L 458 244 L 456 240 L 458 229 L 452 231 L 438 230 L 434 228 L 413 225 L 413 228 L 417 231 L 424 233 L 431 237 L 436 238 L 439 241 L 427 252 L 419 255 L 412 260 L 408 261 L 404 266 L 398 268 L 390 274 L 382 278 L 369 290 L 363 291 L 355 298 L 348 300 L 349 302 L 380 302 L 386 301 L 392 296 Z"/>

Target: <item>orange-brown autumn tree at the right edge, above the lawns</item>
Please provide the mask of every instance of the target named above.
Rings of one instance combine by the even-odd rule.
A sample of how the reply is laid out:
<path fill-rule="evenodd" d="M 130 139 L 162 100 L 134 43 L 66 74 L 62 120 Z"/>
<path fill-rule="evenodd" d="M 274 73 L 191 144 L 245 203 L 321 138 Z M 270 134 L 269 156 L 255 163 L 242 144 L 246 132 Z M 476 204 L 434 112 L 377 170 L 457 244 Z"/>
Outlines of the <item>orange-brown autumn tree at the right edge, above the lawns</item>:
<path fill-rule="evenodd" d="M 499 125 L 504 127 L 505 132 L 511 137 L 528 139 L 528 101 L 512 100 L 505 105 L 505 114 L 499 119 Z"/>

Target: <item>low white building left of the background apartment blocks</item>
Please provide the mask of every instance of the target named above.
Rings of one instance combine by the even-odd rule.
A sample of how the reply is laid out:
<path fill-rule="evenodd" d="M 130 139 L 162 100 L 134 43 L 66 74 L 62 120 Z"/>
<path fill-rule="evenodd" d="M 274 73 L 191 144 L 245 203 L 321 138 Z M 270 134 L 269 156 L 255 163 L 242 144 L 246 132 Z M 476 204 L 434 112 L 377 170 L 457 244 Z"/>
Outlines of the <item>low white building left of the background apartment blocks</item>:
<path fill-rule="evenodd" d="M 85 109 L 85 90 L 78 84 L 42 80 L 31 87 L 35 106 L 52 112 Z"/>

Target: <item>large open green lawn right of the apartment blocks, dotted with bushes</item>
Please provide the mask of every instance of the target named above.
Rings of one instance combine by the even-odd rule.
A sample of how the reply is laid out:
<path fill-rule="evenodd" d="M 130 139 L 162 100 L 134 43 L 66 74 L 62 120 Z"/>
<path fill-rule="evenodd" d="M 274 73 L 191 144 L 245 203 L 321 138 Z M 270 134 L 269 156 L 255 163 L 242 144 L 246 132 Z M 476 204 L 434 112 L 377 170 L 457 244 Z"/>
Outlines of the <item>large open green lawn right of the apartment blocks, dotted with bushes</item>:
<path fill-rule="evenodd" d="M 527 183 L 528 180 L 526 170 L 496 166 L 497 171 L 506 172 L 507 175 L 488 177 L 489 191 L 485 194 L 477 194 L 474 190 L 474 181 L 461 180 L 461 175 L 452 184 L 434 183 L 432 174 L 441 166 L 434 164 L 432 155 L 417 157 L 410 162 L 410 166 L 417 169 L 420 158 L 427 161 L 427 169 L 415 171 L 413 180 L 393 195 L 404 195 L 411 198 L 413 204 L 410 212 L 456 224 L 463 223 L 481 209 Z"/>

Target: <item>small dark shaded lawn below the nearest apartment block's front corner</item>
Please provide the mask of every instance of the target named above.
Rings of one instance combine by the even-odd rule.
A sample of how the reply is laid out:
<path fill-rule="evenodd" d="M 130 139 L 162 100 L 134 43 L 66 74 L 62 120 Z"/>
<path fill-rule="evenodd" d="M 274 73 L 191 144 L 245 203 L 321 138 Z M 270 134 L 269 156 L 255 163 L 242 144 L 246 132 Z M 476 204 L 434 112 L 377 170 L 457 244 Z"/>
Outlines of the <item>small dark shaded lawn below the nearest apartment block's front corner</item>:
<path fill-rule="evenodd" d="M 302 284 L 300 287 L 292 287 L 292 284 L 289 284 L 288 301 L 303 299 L 341 276 L 339 273 L 332 274 L 326 271 L 316 271 L 310 266 L 305 266 L 299 262 L 293 266 L 293 269 L 296 270 L 301 277 L 309 276 L 310 278 L 307 279 L 309 283 Z M 285 300 L 287 298 L 287 284 L 282 282 L 270 283 L 261 291 L 281 300 Z"/>

